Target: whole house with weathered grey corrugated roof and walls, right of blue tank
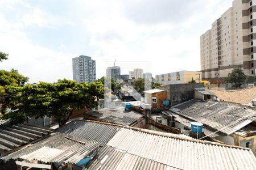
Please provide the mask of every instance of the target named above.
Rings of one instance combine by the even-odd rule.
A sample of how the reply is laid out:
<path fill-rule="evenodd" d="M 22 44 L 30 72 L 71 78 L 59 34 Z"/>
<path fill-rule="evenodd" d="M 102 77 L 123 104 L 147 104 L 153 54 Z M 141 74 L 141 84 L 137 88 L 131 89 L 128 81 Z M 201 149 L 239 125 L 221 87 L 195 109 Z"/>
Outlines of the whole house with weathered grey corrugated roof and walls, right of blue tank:
<path fill-rule="evenodd" d="M 190 122 L 201 122 L 213 140 L 251 148 L 256 156 L 256 111 L 243 105 L 212 100 L 189 100 L 170 109 L 175 128 L 184 130 Z"/>

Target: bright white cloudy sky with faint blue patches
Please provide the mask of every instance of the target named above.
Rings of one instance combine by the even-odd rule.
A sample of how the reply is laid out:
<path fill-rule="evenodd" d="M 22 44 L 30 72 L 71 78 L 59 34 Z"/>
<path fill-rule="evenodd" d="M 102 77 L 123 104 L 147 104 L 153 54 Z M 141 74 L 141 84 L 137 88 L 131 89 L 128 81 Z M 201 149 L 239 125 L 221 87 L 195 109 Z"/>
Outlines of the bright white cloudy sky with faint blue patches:
<path fill-rule="evenodd" d="M 153 75 L 200 70 L 200 36 L 231 0 L 0 0 L 0 51 L 29 83 L 72 79 L 72 58 Z"/>

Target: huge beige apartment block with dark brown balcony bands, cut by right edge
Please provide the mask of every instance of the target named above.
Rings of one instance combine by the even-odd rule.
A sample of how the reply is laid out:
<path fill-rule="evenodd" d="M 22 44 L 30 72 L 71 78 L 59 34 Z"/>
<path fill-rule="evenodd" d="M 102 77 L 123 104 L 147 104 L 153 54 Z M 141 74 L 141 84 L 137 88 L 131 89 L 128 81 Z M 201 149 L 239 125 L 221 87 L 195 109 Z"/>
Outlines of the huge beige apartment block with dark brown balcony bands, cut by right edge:
<path fill-rule="evenodd" d="M 254 75 L 256 67 L 256 0 L 235 0 L 212 28 L 200 36 L 203 78 L 228 76 L 240 68 Z"/>

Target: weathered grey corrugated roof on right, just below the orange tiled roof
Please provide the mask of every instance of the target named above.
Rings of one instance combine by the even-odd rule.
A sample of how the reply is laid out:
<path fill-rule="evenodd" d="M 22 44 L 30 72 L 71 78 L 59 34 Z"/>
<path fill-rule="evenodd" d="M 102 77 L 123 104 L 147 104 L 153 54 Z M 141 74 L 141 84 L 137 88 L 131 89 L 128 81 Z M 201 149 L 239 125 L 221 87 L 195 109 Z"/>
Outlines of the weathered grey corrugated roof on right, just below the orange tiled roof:
<path fill-rule="evenodd" d="M 193 99 L 172 107 L 170 111 L 201 122 L 225 134 L 232 134 L 256 121 L 256 111 L 220 101 Z"/>

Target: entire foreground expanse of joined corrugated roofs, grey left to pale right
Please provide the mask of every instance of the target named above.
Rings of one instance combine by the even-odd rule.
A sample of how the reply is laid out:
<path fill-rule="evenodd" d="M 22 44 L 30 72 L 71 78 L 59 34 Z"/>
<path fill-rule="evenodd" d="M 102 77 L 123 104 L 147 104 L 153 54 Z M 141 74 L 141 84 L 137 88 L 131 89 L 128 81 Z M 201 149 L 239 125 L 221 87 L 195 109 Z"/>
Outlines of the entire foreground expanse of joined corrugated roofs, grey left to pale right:
<path fill-rule="evenodd" d="M 100 145 L 98 156 L 88 169 L 253 169 L 256 166 L 253 152 L 246 148 L 97 121 L 73 121 L 57 129 L 51 137 L 2 159 L 76 163 Z"/>

